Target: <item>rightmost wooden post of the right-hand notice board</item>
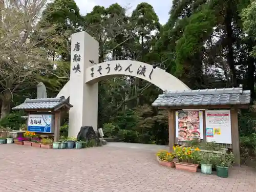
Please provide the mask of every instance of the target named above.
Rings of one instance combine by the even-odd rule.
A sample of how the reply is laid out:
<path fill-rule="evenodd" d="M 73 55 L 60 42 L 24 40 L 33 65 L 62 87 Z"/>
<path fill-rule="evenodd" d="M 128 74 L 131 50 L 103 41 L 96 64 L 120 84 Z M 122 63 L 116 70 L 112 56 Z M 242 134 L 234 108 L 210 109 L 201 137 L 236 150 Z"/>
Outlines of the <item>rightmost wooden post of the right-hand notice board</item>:
<path fill-rule="evenodd" d="M 240 145 L 239 145 L 239 126 L 238 126 L 238 109 L 231 109 L 231 137 L 232 151 L 234 154 L 234 163 L 240 166 Z"/>

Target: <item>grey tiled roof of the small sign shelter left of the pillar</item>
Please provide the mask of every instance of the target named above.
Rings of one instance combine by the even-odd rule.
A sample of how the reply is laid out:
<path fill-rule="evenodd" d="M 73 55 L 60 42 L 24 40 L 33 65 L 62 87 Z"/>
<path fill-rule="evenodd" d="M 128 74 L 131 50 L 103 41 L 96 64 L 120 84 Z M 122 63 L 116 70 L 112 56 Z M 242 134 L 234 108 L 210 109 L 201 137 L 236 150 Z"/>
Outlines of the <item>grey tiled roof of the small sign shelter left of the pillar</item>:
<path fill-rule="evenodd" d="M 13 110 L 40 110 L 40 109 L 54 109 L 57 106 L 67 103 L 70 107 L 72 105 L 67 102 L 64 97 L 59 98 L 44 98 L 44 99 L 29 99 L 27 98 L 24 103 L 15 106 Z"/>

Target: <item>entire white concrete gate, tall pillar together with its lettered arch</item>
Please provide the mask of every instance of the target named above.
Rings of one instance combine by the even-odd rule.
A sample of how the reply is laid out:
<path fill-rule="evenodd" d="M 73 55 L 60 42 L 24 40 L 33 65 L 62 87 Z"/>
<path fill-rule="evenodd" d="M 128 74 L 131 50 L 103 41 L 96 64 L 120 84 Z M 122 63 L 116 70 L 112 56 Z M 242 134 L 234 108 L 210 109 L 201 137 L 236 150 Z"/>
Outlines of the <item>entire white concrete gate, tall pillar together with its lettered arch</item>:
<path fill-rule="evenodd" d="M 70 81 L 57 95 L 69 97 L 73 105 L 69 111 L 69 136 L 76 137 L 81 126 L 93 126 L 97 130 L 98 81 L 102 79 L 127 75 L 147 80 L 163 91 L 190 90 L 173 75 L 143 62 L 114 60 L 95 65 L 98 47 L 98 41 L 84 31 L 71 35 Z"/>

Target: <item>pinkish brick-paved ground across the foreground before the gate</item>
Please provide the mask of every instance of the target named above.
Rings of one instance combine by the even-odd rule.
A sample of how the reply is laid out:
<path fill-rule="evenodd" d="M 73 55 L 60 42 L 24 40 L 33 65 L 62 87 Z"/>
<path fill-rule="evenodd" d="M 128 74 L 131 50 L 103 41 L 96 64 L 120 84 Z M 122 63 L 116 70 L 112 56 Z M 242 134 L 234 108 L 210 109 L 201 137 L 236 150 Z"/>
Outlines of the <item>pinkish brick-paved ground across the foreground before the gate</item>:
<path fill-rule="evenodd" d="M 256 173 L 247 167 L 232 168 L 229 178 L 219 178 L 160 166 L 155 152 L 143 147 L 114 145 L 82 150 L 0 145 L 0 191 L 256 191 Z"/>

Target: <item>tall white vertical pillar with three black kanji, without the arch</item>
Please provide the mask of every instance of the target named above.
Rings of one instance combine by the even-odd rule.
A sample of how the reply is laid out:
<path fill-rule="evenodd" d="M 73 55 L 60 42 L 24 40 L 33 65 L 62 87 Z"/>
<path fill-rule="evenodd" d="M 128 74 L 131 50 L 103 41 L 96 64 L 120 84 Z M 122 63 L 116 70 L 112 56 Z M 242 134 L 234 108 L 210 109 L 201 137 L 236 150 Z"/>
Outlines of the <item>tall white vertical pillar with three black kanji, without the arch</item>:
<path fill-rule="evenodd" d="M 69 137 L 76 137 L 81 126 L 98 126 L 98 83 L 87 84 L 86 69 L 98 63 L 99 44 L 87 32 L 71 35 L 69 93 L 73 108 L 69 111 Z M 94 69 L 97 71 L 98 69 Z M 95 72 L 94 71 L 94 72 Z"/>

